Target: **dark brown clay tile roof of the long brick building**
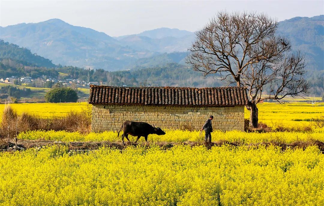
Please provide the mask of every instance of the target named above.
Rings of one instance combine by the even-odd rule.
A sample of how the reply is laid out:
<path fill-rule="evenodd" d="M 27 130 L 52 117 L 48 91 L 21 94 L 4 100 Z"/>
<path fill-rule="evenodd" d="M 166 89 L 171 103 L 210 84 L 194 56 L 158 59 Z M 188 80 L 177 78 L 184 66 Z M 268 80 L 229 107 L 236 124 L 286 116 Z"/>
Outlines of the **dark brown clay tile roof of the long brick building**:
<path fill-rule="evenodd" d="M 247 105 L 246 87 L 110 87 L 90 85 L 89 104 Z"/>

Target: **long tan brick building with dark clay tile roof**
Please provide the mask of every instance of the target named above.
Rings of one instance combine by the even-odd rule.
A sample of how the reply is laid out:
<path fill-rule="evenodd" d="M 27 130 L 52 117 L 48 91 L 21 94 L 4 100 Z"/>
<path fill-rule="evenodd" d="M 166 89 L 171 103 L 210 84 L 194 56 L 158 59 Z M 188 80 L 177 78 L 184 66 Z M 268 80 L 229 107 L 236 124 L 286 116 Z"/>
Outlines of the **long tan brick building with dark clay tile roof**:
<path fill-rule="evenodd" d="M 245 87 L 110 87 L 90 85 L 92 131 L 119 130 L 124 121 L 162 129 L 200 129 L 214 116 L 213 129 L 244 130 Z"/>

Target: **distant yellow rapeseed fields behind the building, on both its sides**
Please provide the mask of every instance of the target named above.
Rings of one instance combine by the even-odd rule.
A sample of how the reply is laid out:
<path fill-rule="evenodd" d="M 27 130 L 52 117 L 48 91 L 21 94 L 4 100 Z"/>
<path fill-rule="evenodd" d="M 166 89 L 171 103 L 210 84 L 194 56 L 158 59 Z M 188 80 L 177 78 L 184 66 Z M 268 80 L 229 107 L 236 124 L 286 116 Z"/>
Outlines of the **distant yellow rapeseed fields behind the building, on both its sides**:
<path fill-rule="evenodd" d="M 87 107 L 81 103 L 25 103 L 10 104 L 19 114 L 22 112 L 36 113 L 43 117 L 64 115 L 71 110 L 82 111 Z M 5 105 L 0 104 L 0 114 Z M 277 126 L 301 127 L 309 125 L 311 118 L 324 115 L 324 103 L 259 103 L 259 121 L 276 128 Z M 249 111 L 245 109 L 245 119 L 249 119 Z"/>

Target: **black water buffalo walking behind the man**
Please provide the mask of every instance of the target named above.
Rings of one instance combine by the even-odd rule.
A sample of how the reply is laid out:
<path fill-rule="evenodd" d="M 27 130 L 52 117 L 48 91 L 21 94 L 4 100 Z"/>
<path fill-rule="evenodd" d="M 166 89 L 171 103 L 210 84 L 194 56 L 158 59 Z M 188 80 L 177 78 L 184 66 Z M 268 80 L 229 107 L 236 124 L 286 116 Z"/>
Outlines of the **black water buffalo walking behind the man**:
<path fill-rule="evenodd" d="M 121 136 L 123 144 L 125 144 L 124 137 L 126 137 L 128 142 L 131 142 L 128 139 L 128 135 L 137 136 L 135 143 L 139 140 L 139 138 L 141 136 L 144 136 L 145 141 L 147 142 L 147 136 L 149 134 L 165 135 L 165 132 L 163 132 L 162 129 L 160 129 L 159 127 L 155 127 L 154 125 L 151 126 L 151 125 L 147 124 L 146 122 L 126 121 L 121 125 L 121 129 L 118 132 L 118 136 L 119 136 L 119 133 L 121 132 L 121 130 L 123 130 L 123 132 L 124 132 Z"/>

